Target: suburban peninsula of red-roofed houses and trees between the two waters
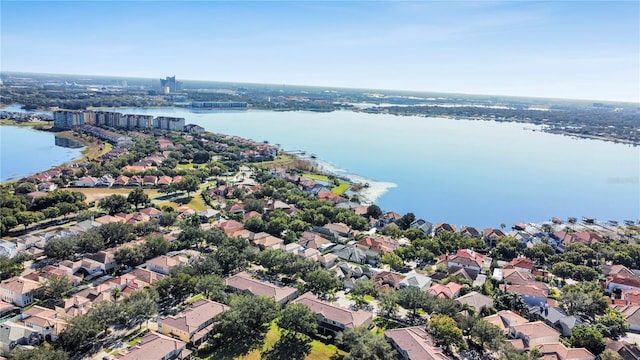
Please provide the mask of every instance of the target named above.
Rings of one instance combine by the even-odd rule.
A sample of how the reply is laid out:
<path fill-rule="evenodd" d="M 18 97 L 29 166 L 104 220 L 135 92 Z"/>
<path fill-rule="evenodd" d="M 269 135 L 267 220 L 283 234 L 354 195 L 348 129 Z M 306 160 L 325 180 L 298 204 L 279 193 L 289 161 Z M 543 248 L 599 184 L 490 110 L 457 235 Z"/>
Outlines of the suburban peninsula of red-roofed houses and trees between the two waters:
<path fill-rule="evenodd" d="M 2 186 L 0 358 L 640 359 L 638 224 L 431 222 L 268 143 L 80 113 L 100 155 Z"/>

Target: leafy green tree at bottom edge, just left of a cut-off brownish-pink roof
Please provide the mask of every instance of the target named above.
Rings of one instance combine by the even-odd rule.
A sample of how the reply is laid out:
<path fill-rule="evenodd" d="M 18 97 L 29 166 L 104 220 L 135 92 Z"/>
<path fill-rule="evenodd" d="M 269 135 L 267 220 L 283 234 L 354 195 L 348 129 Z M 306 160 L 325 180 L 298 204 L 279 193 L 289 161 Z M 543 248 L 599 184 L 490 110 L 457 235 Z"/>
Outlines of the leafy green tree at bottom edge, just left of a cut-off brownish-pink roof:
<path fill-rule="evenodd" d="M 345 360 L 394 360 L 396 356 L 382 336 L 373 334 L 364 326 L 338 334 L 336 342 L 349 351 Z"/>

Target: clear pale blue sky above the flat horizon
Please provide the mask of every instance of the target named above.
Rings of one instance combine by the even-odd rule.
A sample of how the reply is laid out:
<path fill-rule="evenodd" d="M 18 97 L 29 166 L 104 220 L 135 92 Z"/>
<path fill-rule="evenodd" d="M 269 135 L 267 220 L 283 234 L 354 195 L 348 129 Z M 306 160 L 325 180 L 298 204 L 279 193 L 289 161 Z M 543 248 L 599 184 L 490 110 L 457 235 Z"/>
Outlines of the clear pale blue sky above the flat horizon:
<path fill-rule="evenodd" d="M 640 2 L 7 1 L 0 70 L 640 101 Z"/>

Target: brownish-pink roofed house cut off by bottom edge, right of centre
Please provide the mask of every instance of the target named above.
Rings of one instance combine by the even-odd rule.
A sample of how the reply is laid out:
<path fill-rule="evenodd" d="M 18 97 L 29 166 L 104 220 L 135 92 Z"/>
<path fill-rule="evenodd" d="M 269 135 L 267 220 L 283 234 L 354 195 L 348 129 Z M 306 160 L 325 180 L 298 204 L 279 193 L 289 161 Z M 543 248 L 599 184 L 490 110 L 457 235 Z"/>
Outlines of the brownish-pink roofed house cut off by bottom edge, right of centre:
<path fill-rule="evenodd" d="M 403 360 L 448 360 L 421 326 L 384 331 L 384 337 Z"/>

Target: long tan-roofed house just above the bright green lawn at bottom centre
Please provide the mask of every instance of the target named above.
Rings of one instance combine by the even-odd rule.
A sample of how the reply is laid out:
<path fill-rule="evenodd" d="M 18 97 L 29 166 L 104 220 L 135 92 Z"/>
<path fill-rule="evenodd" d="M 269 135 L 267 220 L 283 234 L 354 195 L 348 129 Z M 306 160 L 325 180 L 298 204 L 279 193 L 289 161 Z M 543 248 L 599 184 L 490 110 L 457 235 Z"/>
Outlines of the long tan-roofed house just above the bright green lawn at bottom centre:
<path fill-rule="evenodd" d="M 332 303 L 318 299 L 311 292 L 307 292 L 292 301 L 294 304 L 306 305 L 316 314 L 318 326 L 322 331 L 337 334 L 356 326 L 369 326 L 373 314 L 363 310 L 345 309 Z"/>

